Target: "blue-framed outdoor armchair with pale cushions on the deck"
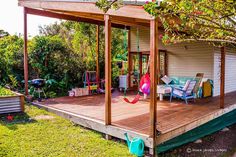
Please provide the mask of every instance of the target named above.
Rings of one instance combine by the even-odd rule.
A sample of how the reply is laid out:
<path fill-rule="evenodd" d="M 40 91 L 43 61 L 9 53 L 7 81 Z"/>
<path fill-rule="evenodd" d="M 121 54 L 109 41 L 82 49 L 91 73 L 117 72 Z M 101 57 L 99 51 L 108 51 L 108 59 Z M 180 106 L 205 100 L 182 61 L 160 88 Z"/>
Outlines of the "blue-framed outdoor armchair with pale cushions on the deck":
<path fill-rule="evenodd" d="M 194 87 L 196 85 L 196 80 L 187 80 L 183 88 L 172 87 L 170 102 L 172 98 L 180 98 L 185 100 L 185 103 L 188 104 L 188 99 L 194 99 Z"/>

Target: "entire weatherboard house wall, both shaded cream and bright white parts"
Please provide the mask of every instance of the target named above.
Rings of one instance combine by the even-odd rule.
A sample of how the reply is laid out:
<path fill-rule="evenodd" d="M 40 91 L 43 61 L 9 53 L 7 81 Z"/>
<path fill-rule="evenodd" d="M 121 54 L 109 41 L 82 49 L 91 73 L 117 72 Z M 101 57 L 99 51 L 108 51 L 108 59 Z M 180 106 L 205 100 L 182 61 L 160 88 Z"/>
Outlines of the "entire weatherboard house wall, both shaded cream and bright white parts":
<path fill-rule="evenodd" d="M 163 30 L 159 31 L 163 34 Z M 131 28 L 131 51 L 137 51 L 137 29 Z M 220 94 L 220 49 L 205 42 L 186 42 L 164 45 L 159 40 L 159 49 L 167 50 L 169 76 L 195 76 L 204 73 L 214 82 L 214 96 Z M 139 28 L 140 51 L 150 51 L 150 31 Z M 225 93 L 236 91 L 236 49 L 226 49 Z"/>

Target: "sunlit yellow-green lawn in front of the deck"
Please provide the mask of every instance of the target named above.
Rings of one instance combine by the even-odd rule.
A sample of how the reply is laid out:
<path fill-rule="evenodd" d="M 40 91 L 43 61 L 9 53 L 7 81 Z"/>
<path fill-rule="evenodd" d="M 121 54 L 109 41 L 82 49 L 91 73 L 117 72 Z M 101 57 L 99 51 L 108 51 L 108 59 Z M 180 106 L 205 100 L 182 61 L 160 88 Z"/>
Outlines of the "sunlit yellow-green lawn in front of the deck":
<path fill-rule="evenodd" d="M 54 118 L 35 119 L 39 115 Z M 107 141 L 100 133 L 33 106 L 26 106 L 26 114 L 15 115 L 12 122 L 0 118 L 0 157 L 131 156 L 125 143 Z"/>

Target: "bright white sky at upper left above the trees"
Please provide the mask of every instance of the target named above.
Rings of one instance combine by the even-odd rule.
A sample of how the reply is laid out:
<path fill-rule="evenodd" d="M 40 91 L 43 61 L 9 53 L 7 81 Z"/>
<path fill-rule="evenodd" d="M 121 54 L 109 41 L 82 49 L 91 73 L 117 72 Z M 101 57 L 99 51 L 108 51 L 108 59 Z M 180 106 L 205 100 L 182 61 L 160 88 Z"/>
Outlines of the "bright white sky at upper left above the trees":
<path fill-rule="evenodd" d="M 18 6 L 18 0 L 0 0 L 0 29 L 11 35 L 23 34 L 23 8 Z M 46 18 L 28 15 L 28 35 L 35 36 L 39 33 L 38 26 L 44 26 L 59 21 L 54 18 Z"/>

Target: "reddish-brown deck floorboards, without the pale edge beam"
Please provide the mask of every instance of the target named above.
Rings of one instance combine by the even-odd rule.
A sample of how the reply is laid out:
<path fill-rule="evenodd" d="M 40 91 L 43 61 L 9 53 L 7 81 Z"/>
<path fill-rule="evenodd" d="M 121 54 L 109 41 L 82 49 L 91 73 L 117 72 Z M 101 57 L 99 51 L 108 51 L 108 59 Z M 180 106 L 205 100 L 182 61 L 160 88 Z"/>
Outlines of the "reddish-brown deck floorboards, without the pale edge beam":
<path fill-rule="evenodd" d="M 236 92 L 226 95 L 225 107 L 236 104 Z M 132 99 L 130 93 L 127 97 Z M 104 121 L 104 95 L 85 97 L 60 97 L 41 102 L 42 105 Z M 176 128 L 189 124 L 201 117 L 219 111 L 219 98 L 199 99 L 184 104 L 181 100 L 169 103 L 168 99 L 157 103 L 157 129 L 167 133 Z M 123 94 L 112 94 L 112 125 L 136 131 L 142 134 L 149 133 L 149 99 L 141 100 L 136 104 L 128 104 L 123 100 Z"/>

